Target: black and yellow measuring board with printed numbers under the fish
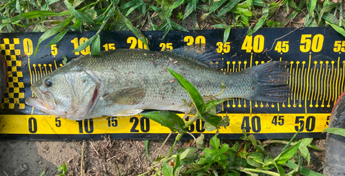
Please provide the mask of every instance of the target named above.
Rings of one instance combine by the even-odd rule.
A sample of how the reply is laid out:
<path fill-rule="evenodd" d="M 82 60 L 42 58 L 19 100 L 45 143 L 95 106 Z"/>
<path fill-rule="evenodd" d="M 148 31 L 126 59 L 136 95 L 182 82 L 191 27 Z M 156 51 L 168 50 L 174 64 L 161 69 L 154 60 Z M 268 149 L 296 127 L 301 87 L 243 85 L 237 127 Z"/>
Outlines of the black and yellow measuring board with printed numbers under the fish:
<path fill-rule="evenodd" d="M 232 29 L 223 43 L 224 30 L 147 31 L 150 50 L 172 50 L 206 43 L 214 46 L 225 61 L 226 72 L 237 72 L 273 59 L 289 61 L 287 83 L 292 95 L 281 104 L 233 99 L 224 102 L 221 117 L 228 116 L 227 128 L 220 128 L 220 139 L 239 139 L 242 129 L 257 139 L 292 137 L 304 124 L 297 137 L 326 137 L 330 113 L 344 92 L 345 37 L 332 28 L 262 28 L 253 36 L 246 29 Z M 25 104 L 32 96 L 30 85 L 44 75 L 63 66 L 68 60 L 88 55 L 90 47 L 72 52 L 95 32 L 67 32 L 59 43 L 44 48 L 43 41 L 34 57 L 42 33 L 3 33 L 0 49 L 8 66 L 8 88 L 0 104 L 0 139 L 165 139 L 170 130 L 147 117 L 99 117 L 72 121 L 47 115 Z M 104 31 L 100 34 L 101 50 L 117 48 L 147 49 L 129 31 Z M 188 119 L 186 119 L 188 120 Z M 188 132 L 206 138 L 214 135 L 196 121 Z M 176 134 L 175 134 L 176 135 Z M 184 139 L 190 138 L 185 135 Z"/>

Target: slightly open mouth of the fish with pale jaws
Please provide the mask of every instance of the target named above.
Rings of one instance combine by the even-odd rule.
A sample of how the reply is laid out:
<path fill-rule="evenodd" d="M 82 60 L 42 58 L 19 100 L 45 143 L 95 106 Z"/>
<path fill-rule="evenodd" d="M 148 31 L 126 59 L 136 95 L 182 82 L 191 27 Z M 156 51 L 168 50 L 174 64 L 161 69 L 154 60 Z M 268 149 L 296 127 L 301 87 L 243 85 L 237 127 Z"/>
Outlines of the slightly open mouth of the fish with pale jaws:
<path fill-rule="evenodd" d="M 27 97 L 25 100 L 26 104 L 46 113 L 55 109 L 55 101 L 52 96 L 50 96 L 49 92 L 41 92 L 34 88 L 32 88 L 31 91 L 36 97 Z"/>

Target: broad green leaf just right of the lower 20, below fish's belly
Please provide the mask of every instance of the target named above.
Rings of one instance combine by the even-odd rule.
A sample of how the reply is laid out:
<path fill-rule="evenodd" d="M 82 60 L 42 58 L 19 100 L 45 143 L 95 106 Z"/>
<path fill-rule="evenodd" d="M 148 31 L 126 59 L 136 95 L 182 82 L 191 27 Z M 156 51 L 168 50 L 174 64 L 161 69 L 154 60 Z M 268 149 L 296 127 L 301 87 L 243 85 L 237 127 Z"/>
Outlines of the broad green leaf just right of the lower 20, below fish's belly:
<path fill-rule="evenodd" d="M 149 113 L 142 113 L 140 115 L 148 117 L 153 121 L 157 121 L 162 126 L 168 127 L 172 132 L 186 132 L 186 129 L 184 128 L 184 120 L 170 111 L 151 111 Z"/>

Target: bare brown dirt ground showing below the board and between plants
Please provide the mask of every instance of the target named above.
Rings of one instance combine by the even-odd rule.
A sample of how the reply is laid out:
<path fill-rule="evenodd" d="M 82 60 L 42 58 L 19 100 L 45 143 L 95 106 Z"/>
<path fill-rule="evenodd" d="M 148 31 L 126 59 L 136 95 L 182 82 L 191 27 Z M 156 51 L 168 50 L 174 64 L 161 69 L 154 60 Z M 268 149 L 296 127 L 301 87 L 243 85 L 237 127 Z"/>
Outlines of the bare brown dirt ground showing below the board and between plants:
<path fill-rule="evenodd" d="M 52 6 L 52 10 L 61 12 L 66 10 L 62 1 Z M 197 13 L 197 18 L 201 16 Z M 286 7 L 282 6 L 274 16 L 274 20 L 282 22 L 289 14 Z M 303 24 L 304 14 L 298 14 L 293 21 L 285 27 L 300 27 Z M 59 19 L 61 20 L 61 19 Z M 142 19 L 138 19 L 141 21 Z M 188 22 L 189 21 L 189 22 Z M 199 23 L 202 29 L 212 29 L 213 21 L 206 19 Z M 144 25 L 142 30 L 148 28 Z M 186 28 L 193 30 L 193 23 L 186 20 Z M 21 32 L 31 32 L 32 28 L 21 29 Z M 222 140 L 223 143 L 232 146 L 235 141 Z M 163 141 L 150 140 L 149 153 L 150 162 L 154 159 Z M 188 145 L 189 141 L 181 141 L 176 149 Z M 172 141 L 169 141 L 162 149 L 164 155 L 168 152 Z M 322 150 L 311 150 L 311 164 L 306 166 L 315 172 L 322 173 L 324 161 L 325 139 L 314 139 L 313 144 Z M 68 175 L 80 175 L 81 153 L 83 141 L 0 141 L 0 176 L 14 175 L 16 170 L 27 168 L 20 175 L 40 175 L 46 170 L 46 175 L 59 175 L 57 166 L 66 163 Z M 266 147 L 269 153 L 278 155 L 282 151 L 282 145 Z M 84 175 L 139 175 L 147 171 L 150 162 L 144 147 L 144 140 L 115 140 L 104 138 L 103 140 L 87 140 L 83 152 L 83 173 Z M 23 169 L 24 170 L 24 169 Z"/>

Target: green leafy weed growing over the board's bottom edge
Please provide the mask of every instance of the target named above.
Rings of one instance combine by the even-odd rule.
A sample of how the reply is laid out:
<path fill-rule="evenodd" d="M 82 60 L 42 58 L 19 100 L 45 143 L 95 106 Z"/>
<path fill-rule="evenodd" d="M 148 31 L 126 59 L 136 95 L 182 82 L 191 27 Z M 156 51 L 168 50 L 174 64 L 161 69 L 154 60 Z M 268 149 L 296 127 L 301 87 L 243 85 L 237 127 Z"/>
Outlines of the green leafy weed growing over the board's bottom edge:
<path fill-rule="evenodd" d="M 306 159 L 308 164 L 311 159 L 307 146 L 310 148 L 315 147 L 311 145 L 311 141 L 313 140 L 311 138 L 299 139 L 293 142 L 299 131 L 292 139 L 290 139 L 290 141 L 283 142 L 268 140 L 261 142 L 255 139 L 254 135 L 247 136 L 246 131 L 243 130 L 242 132 L 244 137 L 242 137 L 242 139 L 244 140 L 244 144 L 240 145 L 239 143 L 236 143 L 233 146 L 221 144 L 221 141 L 217 138 L 218 129 L 222 126 L 225 127 L 229 119 L 222 119 L 212 112 L 213 108 L 224 100 L 212 100 L 205 104 L 204 99 L 202 99 L 201 95 L 192 84 L 184 79 L 184 77 L 177 74 L 177 72 L 169 69 L 167 70 L 175 77 L 175 79 L 177 79 L 180 86 L 186 90 L 190 100 L 193 102 L 192 108 L 195 107 L 197 113 L 194 117 L 190 117 L 190 121 L 187 121 L 186 123 L 181 119 L 181 117 L 171 112 L 154 111 L 141 114 L 157 121 L 162 126 L 170 128 L 172 132 L 178 132 L 169 153 L 165 157 L 157 157 L 152 163 L 152 167 L 150 168 L 152 175 L 161 175 L 161 173 L 167 176 L 217 176 L 241 175 L 241 173 L 246 173 L 248 175 L 296 175 L 297 173 L 302 173 L 304 175 L 321 175 L 301 166 L 303 159 Z M 226 87 L 224 87 L 224 89 L 225 88 Z M 188 117 L 188 113 L 186 113 L 185 117 Z M 204 135 L 201 134 L 197 139 L 193 137 L 195 139 L 193 142 L 195 146 L 180 148 L 172 154 L 172 150 L 175 148 L 177 141 L 181 139 L 181 136 L 186 133 L 186 129 L 197 119 L 205 121 L 206 125 L 204 128 L 206 128 L 206 130 L 217 129 L 215 136 L 210 139 L 210 147 L 205 147 Z M 264 146 L 273 142 L 286 144 L 282 153 L 277 157 L 268 155 L 264 149 Z M 290 168 L 288 173 L 283 169 L 286 166 Z"/>

